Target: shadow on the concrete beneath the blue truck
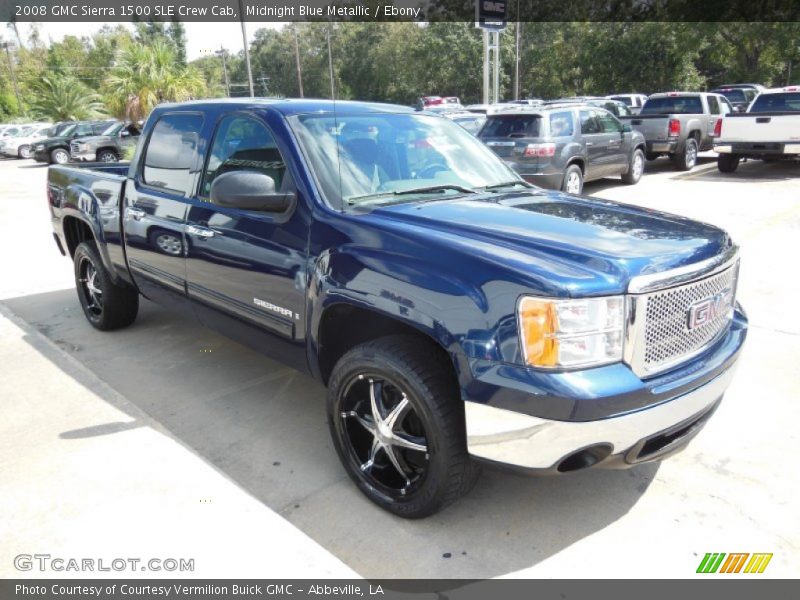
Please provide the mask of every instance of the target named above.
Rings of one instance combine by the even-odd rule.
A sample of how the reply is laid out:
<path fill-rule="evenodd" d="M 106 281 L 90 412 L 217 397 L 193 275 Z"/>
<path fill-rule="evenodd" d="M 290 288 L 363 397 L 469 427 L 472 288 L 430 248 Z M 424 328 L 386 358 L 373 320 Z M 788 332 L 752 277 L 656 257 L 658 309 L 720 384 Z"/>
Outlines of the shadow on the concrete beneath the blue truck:
<path fill-rule="evenodd" d="M 643 465 L 528 478 L 485 470 L 459 503 L 406 521 L 372 505 L 346 477 L 325 423 L 325 390 L 312 379 L 147 301 L 133 326 L 113 333 L 85 322 L 71 289 L 5 304 L 364 577 L 484 578 L 533 566 L 622 518 L 657 471 Z M 50 345 L 29 338 L 64 363 Z M 61 437 L 124 435 L 142 425 L 140 415 L 130 416 L 138 423 Z"/>

